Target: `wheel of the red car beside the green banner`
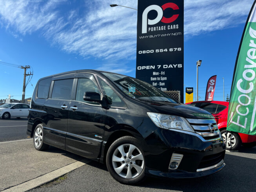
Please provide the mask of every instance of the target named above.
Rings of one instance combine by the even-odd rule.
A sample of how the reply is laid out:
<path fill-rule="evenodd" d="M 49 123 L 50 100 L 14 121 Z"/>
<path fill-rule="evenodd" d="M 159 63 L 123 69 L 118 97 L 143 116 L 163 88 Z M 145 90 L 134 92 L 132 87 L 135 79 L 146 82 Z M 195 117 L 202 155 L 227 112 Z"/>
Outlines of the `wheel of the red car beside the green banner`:
<path fill-rule="evenodd" d="M 222 130 L 220 134 L 226 143 L 226 130 Z M 226 150 L 237 150 L 241 146 L 240 136 L 236 132 L 227 131 Z"/>

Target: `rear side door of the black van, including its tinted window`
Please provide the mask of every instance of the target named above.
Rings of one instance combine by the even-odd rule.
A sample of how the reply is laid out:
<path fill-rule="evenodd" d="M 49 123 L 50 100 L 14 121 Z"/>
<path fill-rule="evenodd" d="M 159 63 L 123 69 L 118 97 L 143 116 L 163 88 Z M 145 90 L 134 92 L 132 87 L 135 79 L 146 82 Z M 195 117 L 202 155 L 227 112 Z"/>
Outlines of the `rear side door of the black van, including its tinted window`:
<path fill-rule="evenodd" d="M 65 149 L 68 110 L 73 96 L 74 74 L 53 78 L 49 99 L 44 103 L 44 142 Z"/>

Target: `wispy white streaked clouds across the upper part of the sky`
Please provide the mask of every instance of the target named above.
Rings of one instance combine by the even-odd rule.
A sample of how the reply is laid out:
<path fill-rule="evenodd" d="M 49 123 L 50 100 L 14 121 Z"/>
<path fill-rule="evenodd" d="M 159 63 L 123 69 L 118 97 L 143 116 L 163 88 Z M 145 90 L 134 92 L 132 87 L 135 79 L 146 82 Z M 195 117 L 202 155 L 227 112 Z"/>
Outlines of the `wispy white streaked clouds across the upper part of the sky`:
<path fill-rule="evenodd" d="M 74 8 L 67 0 L 0 0 L 0 25 L 16 37 L 38 31 L 63 51 L 84 58 L 114 63 L 135 59 L 137 12 L 110 7 L 102 0 L 83 3 Z M 137 0 L 111 3 L 137 8 Z M 244 23 L 252 3 L 253 0 L 185 0 L 185 37 Z"/>

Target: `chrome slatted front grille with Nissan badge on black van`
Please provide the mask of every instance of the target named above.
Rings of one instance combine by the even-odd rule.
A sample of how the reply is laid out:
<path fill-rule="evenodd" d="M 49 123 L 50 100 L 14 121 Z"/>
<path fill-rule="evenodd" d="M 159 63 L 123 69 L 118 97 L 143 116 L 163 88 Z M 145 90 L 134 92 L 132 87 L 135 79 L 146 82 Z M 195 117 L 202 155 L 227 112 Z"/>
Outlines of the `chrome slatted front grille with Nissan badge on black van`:
<path fill-rule="evenodd" d="M 207 141 L 218 140 L 221 139 L 220 130 L 218 129 L 218 125 L 214 119 L 209 120 L 200 120 L 200 119 L 187 119 L 190 125 L 193 127 L 194 131 L 202 136 Z M 213 125 L 213 129 L 210 130 L 209 124 Z"/>

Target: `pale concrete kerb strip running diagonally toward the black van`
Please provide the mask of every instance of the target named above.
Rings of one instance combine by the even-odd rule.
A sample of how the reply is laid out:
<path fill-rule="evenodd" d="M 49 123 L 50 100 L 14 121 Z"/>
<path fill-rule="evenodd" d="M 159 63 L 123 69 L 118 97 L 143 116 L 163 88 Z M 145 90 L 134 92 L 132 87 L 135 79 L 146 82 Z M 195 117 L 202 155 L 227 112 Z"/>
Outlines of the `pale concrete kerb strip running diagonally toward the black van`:
<path fill-rule="evenodd" d="M 89 160 L 89 159 L 83 159 L 81 161 L 76 161 L 76 162 L 66 165 L 62 168 L 58 168 L 52 172 L 42 175 L 38 178 L 31 179 L 29 181 L 26 181 L 24 183 L 14 186 L 14 187 L 8 188 L 4 191 L 5 192 L 21 192 L 21 191 L 23 192 L 23 191 L 31 190 L 40 185 L 44 185 L 45 183 L 53 181 L 54 179 L 59 178 L 60 176 L 63 176 L 66 173 L 71 172 L 71 171 L 77 169 L 78 167 L 81 167 L 89 162 L 91 162 L 91 160 Z"/>

